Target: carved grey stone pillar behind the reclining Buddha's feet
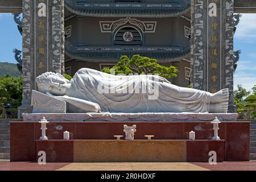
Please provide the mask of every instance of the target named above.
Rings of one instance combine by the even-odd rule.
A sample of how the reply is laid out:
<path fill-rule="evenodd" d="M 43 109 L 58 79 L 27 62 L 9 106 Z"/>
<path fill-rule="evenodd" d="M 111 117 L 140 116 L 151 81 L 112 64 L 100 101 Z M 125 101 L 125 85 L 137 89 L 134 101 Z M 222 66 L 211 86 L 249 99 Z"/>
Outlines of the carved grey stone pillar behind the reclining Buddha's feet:
<path fill-rule="evenodd" d="M 233 102 L 234 0 L 191 1 L 192 88 L 215 93 L 229 88 Z"/>

